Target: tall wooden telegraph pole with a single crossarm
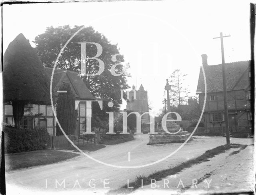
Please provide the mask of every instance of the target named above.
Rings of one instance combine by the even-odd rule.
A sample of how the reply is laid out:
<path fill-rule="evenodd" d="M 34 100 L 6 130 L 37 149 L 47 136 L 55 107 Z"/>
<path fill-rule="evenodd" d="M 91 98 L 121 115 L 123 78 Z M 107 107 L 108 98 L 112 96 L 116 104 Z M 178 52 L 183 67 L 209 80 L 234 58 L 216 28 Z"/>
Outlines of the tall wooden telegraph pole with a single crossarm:
<path fill-rule="evenodd" d="M 223 78 L 223 94 L 224 94 L 224 110 L 225 110 L 224 119 L 225 119 L 225 126 L 226 126 L 226 141 L 227 141 L 227 145 L 230 145 L 223 37 L 230 37 L 230 35 L 223 36 L 222 32 L 221 32 L 220 37 L 214 37 L 213 39 L 219 39 L 220 38 L 220 44 L 221 44 L 222 78 Z"/>

